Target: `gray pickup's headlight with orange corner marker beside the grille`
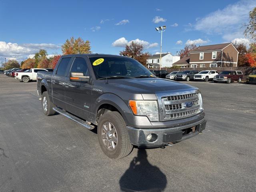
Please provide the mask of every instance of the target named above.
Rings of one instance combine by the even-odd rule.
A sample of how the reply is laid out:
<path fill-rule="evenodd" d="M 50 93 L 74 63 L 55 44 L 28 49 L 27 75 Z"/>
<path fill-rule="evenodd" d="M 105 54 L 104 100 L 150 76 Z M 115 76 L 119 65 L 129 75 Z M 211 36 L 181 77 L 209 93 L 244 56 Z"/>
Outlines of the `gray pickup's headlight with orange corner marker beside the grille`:
<path fill-rule="evenodd" d="M 147 116 L 150 121 L 159 121 L 157 101 L 130 100 L 129 106 L 134 115 Z"/>

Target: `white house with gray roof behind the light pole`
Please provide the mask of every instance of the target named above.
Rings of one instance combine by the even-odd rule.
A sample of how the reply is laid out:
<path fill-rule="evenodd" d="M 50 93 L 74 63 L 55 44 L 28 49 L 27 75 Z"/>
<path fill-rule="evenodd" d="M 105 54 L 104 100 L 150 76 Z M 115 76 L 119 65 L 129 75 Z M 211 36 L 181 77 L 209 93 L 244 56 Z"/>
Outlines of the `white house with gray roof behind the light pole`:
<path fill-rule="evenodd" d="M 172 55 L 171 53 L 162 53 L 161 67 L 172 67 L 172 64 L 180 60 L 180 56 Z M 147 58 L 148 68 L 159 68 L 160 66 L 160 54 L 152 55 Z"/>

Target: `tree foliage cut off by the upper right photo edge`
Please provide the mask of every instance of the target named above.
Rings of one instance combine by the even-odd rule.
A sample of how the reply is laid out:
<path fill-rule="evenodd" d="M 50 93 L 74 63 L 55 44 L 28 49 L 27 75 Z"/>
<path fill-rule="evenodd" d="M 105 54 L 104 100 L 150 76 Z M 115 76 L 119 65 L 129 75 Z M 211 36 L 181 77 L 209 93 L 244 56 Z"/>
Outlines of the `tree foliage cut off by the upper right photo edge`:
<path fill-rule="evenodd" d="M 249 12 L 249 23 L 245 24 L 245 26 L 244 35 L 256 42 L 256 7 Z"/>

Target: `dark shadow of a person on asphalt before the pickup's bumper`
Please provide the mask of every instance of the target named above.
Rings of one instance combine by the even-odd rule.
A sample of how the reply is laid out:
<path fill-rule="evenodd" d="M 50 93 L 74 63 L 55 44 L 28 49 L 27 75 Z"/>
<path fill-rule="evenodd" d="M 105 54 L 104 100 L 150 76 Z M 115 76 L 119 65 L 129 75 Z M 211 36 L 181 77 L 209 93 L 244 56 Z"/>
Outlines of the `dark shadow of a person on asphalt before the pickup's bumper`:
<path fill-rule="evenodd" d="M 121 191 L 124 192 L 162 192 L 166 188 L 166 176 L 147 159 L 145 149 L 138 149 L 130 167 L 120 178 Z"/>

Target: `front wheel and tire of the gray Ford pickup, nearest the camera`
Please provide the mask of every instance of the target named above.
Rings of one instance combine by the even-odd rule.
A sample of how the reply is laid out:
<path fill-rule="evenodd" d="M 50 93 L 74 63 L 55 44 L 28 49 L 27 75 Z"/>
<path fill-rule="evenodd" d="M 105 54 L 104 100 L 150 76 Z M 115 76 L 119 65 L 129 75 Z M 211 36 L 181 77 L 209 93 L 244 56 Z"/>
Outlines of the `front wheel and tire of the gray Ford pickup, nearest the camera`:
<path fill-rule="evenodd" d="M 97 132 L 100 148 L 109 158 L 120 159 L 132 151 L 133 146 L 130 143 L 126 123 L 120 113 L 114 111 L 103 114 Z"/>

